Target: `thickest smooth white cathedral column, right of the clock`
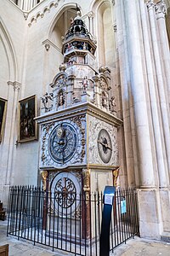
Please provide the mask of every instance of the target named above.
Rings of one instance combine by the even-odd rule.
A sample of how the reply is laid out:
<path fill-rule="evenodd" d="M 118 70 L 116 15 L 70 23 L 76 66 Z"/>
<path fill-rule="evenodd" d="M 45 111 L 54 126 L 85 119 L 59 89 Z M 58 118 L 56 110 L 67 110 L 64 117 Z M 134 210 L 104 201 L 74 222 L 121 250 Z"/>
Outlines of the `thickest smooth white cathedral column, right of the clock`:
<path fill-rule="evenodd" d="M 135 0 L 124 1 L 127 16 L 127 47 L 130 65 L 130 79 L 133 94 L 133 108 L 139 147 L 139 169 L 141 187 L 150 188 L 156 186 L 155 164 L 151 145 L 151 131 L 149 113 L 146 105 L 144 91 L 144 74 L 142 55 L 140 50 L 139 25 L 135 9 Z M 150 170 L 147 172 L 146 169 Z"/>

